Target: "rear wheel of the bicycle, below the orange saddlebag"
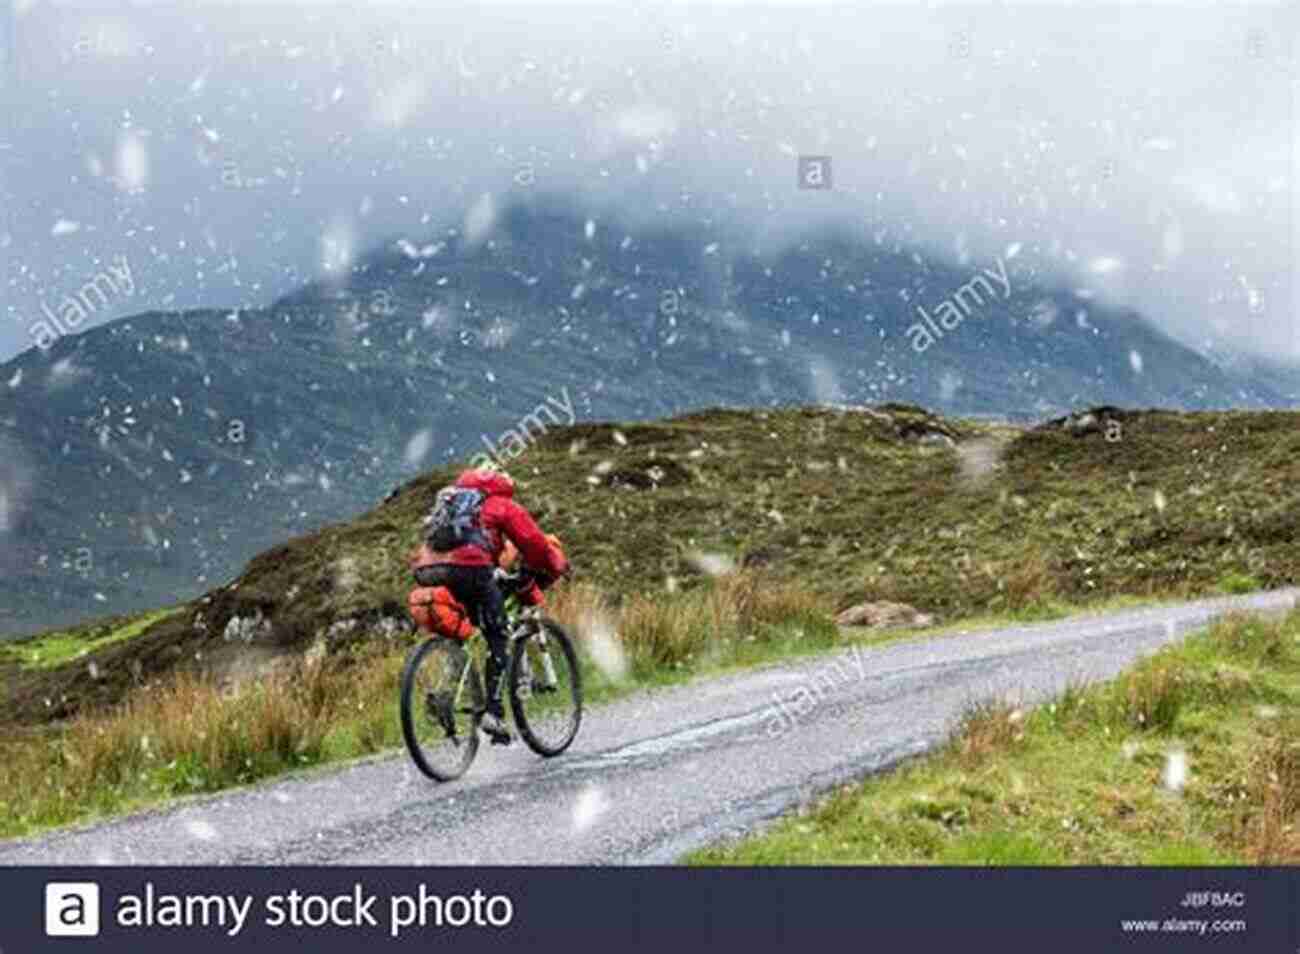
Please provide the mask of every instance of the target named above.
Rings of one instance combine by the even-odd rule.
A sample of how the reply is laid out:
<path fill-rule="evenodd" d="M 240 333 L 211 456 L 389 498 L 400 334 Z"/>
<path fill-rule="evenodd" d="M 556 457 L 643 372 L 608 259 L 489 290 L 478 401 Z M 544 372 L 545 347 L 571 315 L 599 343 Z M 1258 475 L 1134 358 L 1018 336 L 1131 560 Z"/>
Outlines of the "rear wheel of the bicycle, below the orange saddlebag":
<path fill-rule="evenodd" d="M 467 647 L 446 637 L 425 639 L 402 672 L 402 737 L 416 767 L 451 781 L 478 751 L 482 681 Z"/>

